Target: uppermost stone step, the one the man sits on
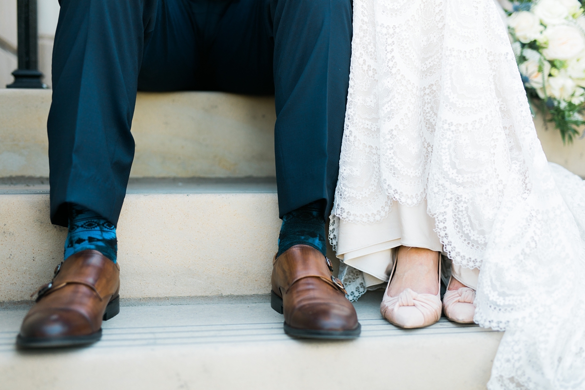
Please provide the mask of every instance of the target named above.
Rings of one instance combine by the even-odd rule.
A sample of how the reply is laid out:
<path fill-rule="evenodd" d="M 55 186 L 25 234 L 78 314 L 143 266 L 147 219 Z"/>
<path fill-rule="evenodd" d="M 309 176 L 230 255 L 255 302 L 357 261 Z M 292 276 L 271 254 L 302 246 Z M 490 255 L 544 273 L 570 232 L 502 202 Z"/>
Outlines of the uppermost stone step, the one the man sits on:
<path fill-rule="evenodd" d="M 50 90 L 0 89 L 0 177 L 48 177 Z M 131 177 L 274 177 L 274 98 L 139 92 Z"/>

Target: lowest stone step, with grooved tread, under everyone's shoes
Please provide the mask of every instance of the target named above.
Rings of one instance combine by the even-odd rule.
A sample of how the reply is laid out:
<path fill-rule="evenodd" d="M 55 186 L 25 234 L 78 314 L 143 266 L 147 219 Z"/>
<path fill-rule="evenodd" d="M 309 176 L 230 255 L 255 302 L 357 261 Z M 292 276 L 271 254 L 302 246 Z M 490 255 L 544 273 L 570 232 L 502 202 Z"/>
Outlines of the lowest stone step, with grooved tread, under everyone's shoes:
<path fill-rule="evenodd" d="M 18 351 L 26 308 L 0 310 L 3 390 L 486 389 L 502 333 L 445 319 L 402 330 L 380 291 L 356 303 L 362 336 L 302 341 L 283 333 L 269 297 L 122 300 L 91 347 Z"/>

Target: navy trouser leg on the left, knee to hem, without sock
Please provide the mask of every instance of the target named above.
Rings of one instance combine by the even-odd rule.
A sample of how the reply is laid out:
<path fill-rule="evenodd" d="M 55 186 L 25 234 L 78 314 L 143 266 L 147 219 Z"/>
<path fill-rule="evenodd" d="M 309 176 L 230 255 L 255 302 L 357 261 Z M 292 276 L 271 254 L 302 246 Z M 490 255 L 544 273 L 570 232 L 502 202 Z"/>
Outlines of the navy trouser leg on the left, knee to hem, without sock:
<path fill-rule="evenodd" d="M 51 221 L 67 226 L 71 202 L 116 224 L 134 157 L 137 75 L 157 0 L 60 4 L 47 122 Z"/>

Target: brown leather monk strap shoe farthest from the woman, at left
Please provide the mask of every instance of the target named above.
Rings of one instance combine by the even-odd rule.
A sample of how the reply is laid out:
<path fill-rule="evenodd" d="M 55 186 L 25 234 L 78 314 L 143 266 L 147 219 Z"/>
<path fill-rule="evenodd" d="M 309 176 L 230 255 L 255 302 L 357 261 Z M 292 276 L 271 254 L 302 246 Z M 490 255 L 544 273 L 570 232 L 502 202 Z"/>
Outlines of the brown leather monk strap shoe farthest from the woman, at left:
<path fill-rule="evenodd" d="M 38 291 L 16 337 L 22 348 L 70 347 L 102 337 L 102 320 L 120 312 L 120 267 L 95 250 L 67 258 Z"/>

